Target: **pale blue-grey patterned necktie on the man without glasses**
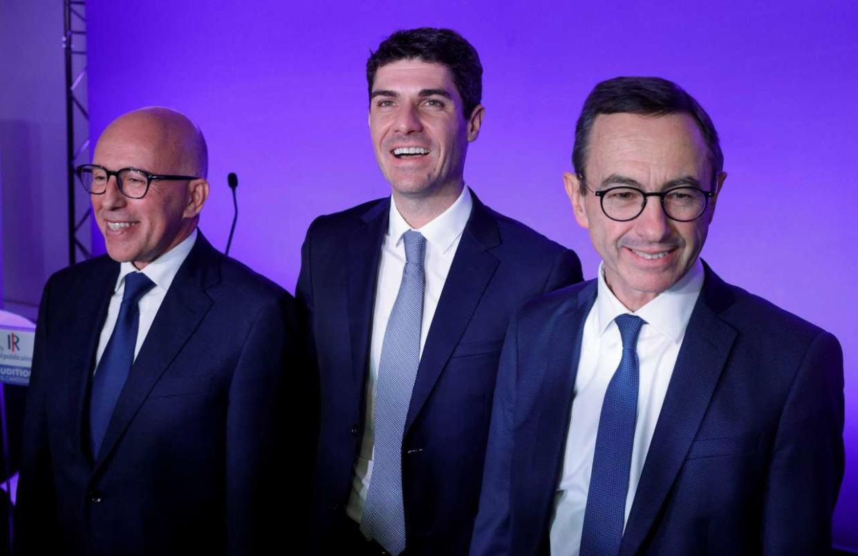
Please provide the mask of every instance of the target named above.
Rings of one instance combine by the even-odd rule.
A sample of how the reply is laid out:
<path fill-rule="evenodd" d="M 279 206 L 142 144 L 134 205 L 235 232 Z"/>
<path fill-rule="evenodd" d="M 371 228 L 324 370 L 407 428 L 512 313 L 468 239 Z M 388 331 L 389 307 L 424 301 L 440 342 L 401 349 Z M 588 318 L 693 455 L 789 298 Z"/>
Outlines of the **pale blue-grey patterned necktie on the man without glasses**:
<path fill-rule="evenodd" d="M 402 508 L 402 433 L 420 365 L 423 323 L 423 257 L 426 239 L 409 230 L 405 240 L 405 269 L 390 320 L 384 330 L 378 363 L 375 405 L 375 446 L 372 478 L 360 530 L 391 554 L 405 550 L 405 511 Z"/>

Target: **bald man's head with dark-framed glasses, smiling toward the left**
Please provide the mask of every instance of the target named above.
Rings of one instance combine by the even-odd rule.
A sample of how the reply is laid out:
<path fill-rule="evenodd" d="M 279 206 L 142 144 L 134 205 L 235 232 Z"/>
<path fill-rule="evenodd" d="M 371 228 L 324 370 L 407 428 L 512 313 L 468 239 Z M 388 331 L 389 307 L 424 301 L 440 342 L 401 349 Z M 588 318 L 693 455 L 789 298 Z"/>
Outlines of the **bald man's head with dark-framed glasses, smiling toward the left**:
<path fill-rule="evenodd" d="M 114 260 L 142 269 L 193 233 L 208 198 L 208 149 L 190 118 L 161 107 L 128 112 L 101 134 L 93 163 L 108 172 L 136 168 L 154 177 L 140 198 L 125 196 L 110 177 L 106 190 L 92 196 Z"/>

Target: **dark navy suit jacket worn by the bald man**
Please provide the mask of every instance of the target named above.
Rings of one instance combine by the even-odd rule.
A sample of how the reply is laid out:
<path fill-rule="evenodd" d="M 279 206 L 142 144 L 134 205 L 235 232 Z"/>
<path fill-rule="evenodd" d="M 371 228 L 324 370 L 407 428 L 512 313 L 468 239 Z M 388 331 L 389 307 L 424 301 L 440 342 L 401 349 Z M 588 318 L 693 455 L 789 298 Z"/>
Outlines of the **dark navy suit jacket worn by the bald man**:
<path fill-rule="evenodd" d="M 286 471 L 293 299 L 199 234 L 88 452 L 88 380 L 119 264 L 51 276 L 39 306 L 15 552 L 259 554 Z M 269 544 L 265 544 L 269 543 Z"/>

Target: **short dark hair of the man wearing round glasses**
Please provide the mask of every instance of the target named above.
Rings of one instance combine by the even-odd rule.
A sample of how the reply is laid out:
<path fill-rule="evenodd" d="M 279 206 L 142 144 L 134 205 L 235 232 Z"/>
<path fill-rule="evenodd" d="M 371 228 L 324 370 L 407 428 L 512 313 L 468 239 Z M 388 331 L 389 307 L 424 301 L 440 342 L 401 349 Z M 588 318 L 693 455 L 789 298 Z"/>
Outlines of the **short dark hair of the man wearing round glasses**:
<path fill-rule="evenodd" d="M 724 154 L 718 143 L 718 132 L 709 114 L 692 95 L 674 82 L 661 77 L 615 77 L 598 83 L 590 92 L 581 116 L 575 124 L 575 147 L 572 148 L 572 166 L 578 176 L 584 175 L 590 130 L 599 114 L 627 112 L 642 116 L 667 116 L 686 113 L 698 124 L 712 167 L 712 178 L 721 173 Z M 582 182 L 582 192 L 585 191 Z"/>

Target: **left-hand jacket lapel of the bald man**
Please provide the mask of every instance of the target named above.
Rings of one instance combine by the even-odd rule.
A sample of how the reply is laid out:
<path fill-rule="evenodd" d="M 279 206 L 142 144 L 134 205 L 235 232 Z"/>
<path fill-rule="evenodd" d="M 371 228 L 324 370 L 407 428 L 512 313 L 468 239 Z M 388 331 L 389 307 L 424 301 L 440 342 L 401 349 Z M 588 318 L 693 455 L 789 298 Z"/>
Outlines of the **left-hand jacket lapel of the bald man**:
<path fill-rule="evenodd" d="M 81 297 L 77 300 L 75 319 L 69 323 L 69 329 L 75 330 L 73 335 L 57 335 L 57 339 L 67 345 L 59 345 L 57 354 L 67 354 L 69 372 L 63 377 L 68 381 L 63 390 L 69 396 L 69 416 L 74 423 L 74 445 L 81 453 L 89 453 L 89 433 L 85 429 L 89 422 L 87 411 L 87 396 L 89 377 L 93 372 L 95 352 L 99 346 L 101 327 L 107 317 L 107 307 L 116 280 L 119 276 L 119 263 L 105 257 L 105 263 L 100 264 L 92 272 L 91 280 L 82 287 Z"/>

